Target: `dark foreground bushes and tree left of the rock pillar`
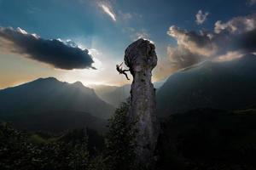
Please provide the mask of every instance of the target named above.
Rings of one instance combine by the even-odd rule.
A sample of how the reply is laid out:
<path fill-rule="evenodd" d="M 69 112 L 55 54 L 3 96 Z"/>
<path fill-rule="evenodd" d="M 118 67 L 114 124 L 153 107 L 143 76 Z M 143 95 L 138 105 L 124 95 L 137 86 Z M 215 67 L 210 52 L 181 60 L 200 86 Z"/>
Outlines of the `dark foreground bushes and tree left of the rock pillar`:
<path fill-rule="evenodd" d="M 104 139 L 89 128 L 59 134 L 24 132 L 10 123 L 0 125 L 1 170 L 119 170 L 133 169 L 135 129 L 128 122 L 128 104 L 111 119 Z"/>

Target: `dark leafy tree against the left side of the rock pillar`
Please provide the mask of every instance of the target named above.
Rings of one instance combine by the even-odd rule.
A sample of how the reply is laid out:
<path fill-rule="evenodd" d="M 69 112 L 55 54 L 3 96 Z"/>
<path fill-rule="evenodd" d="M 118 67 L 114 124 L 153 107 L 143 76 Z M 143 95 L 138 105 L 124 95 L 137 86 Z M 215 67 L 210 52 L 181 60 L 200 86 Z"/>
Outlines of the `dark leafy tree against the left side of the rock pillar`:
<path fill-rule="evenodd" d="M 129 170 L 135 167 L 135 122 L 128 119 L 129 103 L 123 103 L 108 120 L 106 138 L 107 166 L 111 170 Z"/>

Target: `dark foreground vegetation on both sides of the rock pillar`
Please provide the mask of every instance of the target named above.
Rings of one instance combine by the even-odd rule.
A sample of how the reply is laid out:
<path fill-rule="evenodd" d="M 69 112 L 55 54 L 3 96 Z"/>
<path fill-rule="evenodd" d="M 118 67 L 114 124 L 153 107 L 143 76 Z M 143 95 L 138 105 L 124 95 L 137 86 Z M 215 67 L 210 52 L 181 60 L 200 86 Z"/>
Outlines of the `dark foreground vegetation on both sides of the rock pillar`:
<path fill-rule="evenodd" d="M 129 104 L 108 121 L 102 137 L 90 128 L 62 133 L 24 132 L 0 125 L 1 170 L 131 170 L 137 130 Z M 159 170 L 256 169 L 256 110 L 197 109 L 161 123 Z"/>

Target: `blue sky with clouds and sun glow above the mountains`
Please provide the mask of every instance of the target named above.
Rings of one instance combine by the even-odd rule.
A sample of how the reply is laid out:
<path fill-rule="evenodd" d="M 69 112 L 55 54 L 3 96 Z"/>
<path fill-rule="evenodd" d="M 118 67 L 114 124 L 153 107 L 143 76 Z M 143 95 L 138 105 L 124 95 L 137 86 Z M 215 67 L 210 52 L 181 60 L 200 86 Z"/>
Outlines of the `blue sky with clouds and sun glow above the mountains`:
<path fill-rule="evenodd" d="M 115 65 L 138 38 L 156 46 L 160 81 L 255 54 L 255 29 L 256 0 L 0 0 L 0 88 L 39 77 L 129 83 Z"/>

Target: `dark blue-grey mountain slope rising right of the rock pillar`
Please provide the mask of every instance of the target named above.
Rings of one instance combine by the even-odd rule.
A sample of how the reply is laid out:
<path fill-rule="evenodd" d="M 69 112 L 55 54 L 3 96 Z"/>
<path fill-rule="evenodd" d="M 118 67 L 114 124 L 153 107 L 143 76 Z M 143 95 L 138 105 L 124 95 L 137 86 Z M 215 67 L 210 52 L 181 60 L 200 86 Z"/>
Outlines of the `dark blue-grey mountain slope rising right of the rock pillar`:
<path fill-rule="evenodd" d="M 240 110 L 256 104 L 256 56 L 205 62 L 178 71 L 157 93 L 159 116 L 196 108 Z"/>

